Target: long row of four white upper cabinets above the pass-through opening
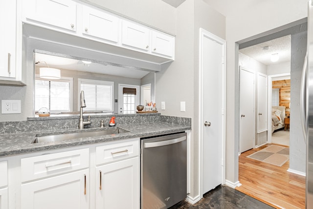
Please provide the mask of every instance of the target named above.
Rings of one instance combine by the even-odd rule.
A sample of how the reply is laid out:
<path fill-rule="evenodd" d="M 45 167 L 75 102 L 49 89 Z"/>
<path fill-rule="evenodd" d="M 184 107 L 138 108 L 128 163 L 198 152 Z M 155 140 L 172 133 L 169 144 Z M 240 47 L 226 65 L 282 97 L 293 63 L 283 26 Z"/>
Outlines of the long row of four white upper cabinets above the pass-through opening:
<path fill-rule="evenodd" d="M 77 43 L 79 41 L 76 39 L 64 43 L 63 35 L 69 34 L 105 44 L 101 49 L 104 53 L 139 60 L 145 59 L 156 64 L 174 60 L 174 36 L 162 33 L 149 26 L 125 19 L 78 0 L 21 1 L 23 23 L 61 32 L 60 34 L 51 35 L 52 33 L 50 34 L 47 30 L 43 30 L 43 32 L 27 31 L 28 36 L 80 46 L 81 43 Z M 4 15 L 5 20 L 7 16 Z M 109 47 L 106 47 L 108 45 Z M 142 56 L 142 53 L 137 52 L 149 56 Z M 2 56 L 1 59 L 4 58 L 8 60 L 8 52 L 6 52 L 6 57 Z M 12 55 L 11 59 L 14 59 Z"/>

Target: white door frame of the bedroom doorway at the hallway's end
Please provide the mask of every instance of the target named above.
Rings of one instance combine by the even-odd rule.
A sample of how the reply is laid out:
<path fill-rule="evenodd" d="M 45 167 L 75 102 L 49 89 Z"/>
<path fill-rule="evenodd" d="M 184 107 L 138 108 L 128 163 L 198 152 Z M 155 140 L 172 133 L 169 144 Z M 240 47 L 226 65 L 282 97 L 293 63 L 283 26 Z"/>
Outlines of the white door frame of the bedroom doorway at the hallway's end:
<path fill-rule="evenodd" d="M 272 142 L 272 80 L 277 77 L 290 76 L 290 72 L 268 75 L 268 143 Z"/>

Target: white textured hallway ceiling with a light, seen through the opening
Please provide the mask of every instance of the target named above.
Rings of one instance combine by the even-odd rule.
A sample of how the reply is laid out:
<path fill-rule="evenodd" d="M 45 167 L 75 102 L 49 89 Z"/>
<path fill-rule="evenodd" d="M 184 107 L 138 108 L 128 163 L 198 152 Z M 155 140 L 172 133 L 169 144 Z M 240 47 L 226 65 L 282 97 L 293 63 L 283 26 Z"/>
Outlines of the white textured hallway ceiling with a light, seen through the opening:
<path fill-rule="evenodd" d="M 263 50 L 264 46 L 268 46 L 268 50 Z M 273 39 L 258 45 L 249 46 L 240 49 L 239 52 L 263 63 L 264 65 L 272 65 L 282 62 L 291 62 L 291 36 L 284 36 L 278 39 Z M 278 53 L 279 60 L 271 62 L 270 56 Z"/>

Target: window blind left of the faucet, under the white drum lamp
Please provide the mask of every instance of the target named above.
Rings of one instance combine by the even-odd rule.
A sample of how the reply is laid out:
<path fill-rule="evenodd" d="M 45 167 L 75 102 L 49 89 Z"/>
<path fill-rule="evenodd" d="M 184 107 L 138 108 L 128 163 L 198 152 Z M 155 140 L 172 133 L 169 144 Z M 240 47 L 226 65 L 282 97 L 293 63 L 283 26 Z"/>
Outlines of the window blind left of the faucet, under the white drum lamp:
<path fill-rule="evenodd" d="M 35 111 L 46 107 L 50 112 L 71 111 L 71 80 L 35 80 Z"/>

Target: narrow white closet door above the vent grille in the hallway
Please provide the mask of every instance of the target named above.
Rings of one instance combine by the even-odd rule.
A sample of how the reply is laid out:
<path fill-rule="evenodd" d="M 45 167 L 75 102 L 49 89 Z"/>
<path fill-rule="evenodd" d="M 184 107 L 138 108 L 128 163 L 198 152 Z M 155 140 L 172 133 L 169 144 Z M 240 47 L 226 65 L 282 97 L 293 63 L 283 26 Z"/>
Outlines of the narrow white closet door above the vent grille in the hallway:
<path fill-rule="evenodd" d="M 258 73 L 258 107 L 257 107 L 257 132 L 261 133 L 267 130 L 268 118 L 268 76 Z"/>

